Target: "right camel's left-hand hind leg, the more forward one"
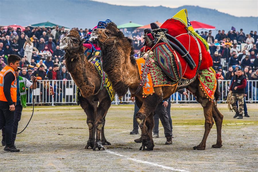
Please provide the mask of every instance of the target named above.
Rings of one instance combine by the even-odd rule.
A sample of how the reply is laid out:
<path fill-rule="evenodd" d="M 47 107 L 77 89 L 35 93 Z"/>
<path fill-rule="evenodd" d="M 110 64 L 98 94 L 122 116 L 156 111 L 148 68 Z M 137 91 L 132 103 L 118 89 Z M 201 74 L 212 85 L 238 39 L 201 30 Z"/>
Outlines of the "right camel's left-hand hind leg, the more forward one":
<path fill-rule="evenodd" d="M 212 101 L 209 101 L 208 98 L 206 97 L 200 97 L 199 101 L 203 107 L 203 111 L 204 111 L 204 117 L 205 117 L 205 131 L 204 131 L 204 136 L 202 139 L 202 142 L 198 145 L 193 147 L 194 150 L 204 150 L 206 147 L 206 140 L 207 137 L 210 133 L 210 129 L 212 128 L 213 124 L 214 124 L 214 120 L 212 118 Z"/>

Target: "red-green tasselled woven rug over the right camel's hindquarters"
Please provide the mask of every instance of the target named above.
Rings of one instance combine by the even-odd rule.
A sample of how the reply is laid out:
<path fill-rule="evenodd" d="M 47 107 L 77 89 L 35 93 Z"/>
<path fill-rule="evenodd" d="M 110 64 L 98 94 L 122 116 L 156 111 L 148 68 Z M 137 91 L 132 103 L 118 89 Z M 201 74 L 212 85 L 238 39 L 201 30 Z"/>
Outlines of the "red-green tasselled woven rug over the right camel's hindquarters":
<path fill-rule="evenodd" d="M 207 69 L 200 70 L 198 72 L 198 79 L 200 81 L 200 87 L 204 91 L 205 95 L 209 100 L 214 100 L 214 93 L 217 88 L 216 73 L 210 67 Z"/>

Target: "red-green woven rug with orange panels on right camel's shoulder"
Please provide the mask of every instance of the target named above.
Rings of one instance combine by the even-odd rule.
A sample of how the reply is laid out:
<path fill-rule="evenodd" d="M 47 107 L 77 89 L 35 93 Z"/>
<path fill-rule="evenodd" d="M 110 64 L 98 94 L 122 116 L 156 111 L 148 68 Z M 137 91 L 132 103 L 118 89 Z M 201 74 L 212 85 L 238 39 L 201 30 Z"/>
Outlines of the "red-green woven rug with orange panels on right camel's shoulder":
<path fill-rule="evenodd" d="M 136 59 L 140 78 L 144 70 L 145 58 Z M 152 95 L 154 93 L 154 87 L 159 86 L 174 86 L 177 82 L 171 81 L 167 78 L 166 74 L 157 66 L 154 62 L 150 62 L 149 72 L 147 74 L 146 82 L 143 86 L 143 97 Z"/>

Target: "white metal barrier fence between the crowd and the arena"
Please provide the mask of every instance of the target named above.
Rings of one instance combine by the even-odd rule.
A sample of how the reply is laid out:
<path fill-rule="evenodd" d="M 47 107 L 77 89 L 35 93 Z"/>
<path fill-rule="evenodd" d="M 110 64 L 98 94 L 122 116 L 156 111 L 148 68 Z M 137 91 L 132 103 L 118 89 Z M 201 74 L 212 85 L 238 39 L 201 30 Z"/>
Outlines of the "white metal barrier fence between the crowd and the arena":
<path fill-rule="evenodd" d="M 218 80 L 220 85 L 220 101 L 226 102 L 227 95 L 230 87 L 230 80 Z M 34 90 L 34 103 L 35 104 L 75 104 L 76 103 L 76 88 L 73 80 L 39 80 L 37 88 Z M 186 90 L 186 89 L 185 89 Z M 32 104 L 32 95 L 29 96 L 31 89 L 27 90 L 27 104 Z M 258 80 L 247 81 L 246 87 L 246 102 L 258 102 Z M 178 92 L 171 95 L 171 102 L 174 103 L 187 103 L 196 102 L 195 96 L 188 94 L 187 98 Z M 131 93 L 128 91 L 122 98 L 123 103 L 132 103 Z M 113 104 L 119 104 L 118 96 L 115 97 Z"/>

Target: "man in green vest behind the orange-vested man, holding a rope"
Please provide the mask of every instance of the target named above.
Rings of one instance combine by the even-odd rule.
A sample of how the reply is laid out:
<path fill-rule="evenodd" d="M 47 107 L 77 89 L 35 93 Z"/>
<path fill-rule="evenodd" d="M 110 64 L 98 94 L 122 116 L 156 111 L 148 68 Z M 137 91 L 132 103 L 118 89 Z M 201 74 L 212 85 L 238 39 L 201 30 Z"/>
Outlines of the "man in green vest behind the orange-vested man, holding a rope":
<path fill-rule="evenodd" d="M 18 70 L 20 70 L 18 68 Z M 16 134 L 17 134 L 17 129 L 18 129 L 18 123 L 21 120 L 21 112 L 23 108 L 26 108 L 26 88 L 30 89 L 36 89 L 37 88 L 37 78 L 33 76 L 33 84 L 30 82 L 28 79 L 18 76 L 19 71 L 15 71 L 15 77 L 17 80 L 17 102 L 15 106 L 15 113 L 14 113 L 14 121 L 13 121 L 13 135 L 12 135 L 12 143 L 13 147 L 16 147 L 15 145 L 15 139 L 16 139 Z M 32 97 L 33 98 L 33 97 Z M 2 145 L 5 146 L 5 128 L 2 128 Z"/>

